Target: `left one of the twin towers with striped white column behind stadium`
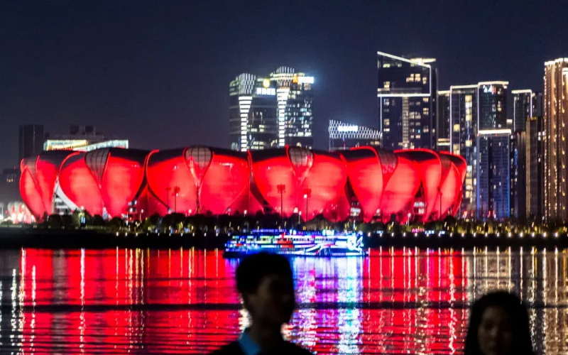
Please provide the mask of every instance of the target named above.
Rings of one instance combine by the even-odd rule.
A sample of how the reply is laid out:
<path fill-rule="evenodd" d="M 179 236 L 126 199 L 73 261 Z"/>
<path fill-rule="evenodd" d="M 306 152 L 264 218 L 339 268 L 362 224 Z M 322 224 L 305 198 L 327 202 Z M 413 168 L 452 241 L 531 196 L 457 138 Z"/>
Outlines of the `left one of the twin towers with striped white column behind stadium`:
<path fill-rule="evenodd" d="M 231 149 L 258 150 L 278 145 L 276 87 L 268 78 L 241 74 L 229 85 Z"/>

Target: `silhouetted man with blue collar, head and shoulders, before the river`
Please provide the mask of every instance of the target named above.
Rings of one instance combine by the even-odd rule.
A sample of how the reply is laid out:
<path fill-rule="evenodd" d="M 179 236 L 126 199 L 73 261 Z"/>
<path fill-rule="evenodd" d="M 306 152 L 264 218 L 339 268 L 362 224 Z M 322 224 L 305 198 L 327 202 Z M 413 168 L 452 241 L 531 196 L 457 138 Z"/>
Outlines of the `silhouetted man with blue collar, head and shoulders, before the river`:
<path fill-rule="evenodd" d="M 283 256 L 257 253 L 241 261 L 236 269 L 236 288 L 252 324 L 239 340 L 226 344 L 213 355 L 310 355 L 310 351 L 286 342 L 282 324 L 290 322 L 295 308 L 290 263 Z"/>

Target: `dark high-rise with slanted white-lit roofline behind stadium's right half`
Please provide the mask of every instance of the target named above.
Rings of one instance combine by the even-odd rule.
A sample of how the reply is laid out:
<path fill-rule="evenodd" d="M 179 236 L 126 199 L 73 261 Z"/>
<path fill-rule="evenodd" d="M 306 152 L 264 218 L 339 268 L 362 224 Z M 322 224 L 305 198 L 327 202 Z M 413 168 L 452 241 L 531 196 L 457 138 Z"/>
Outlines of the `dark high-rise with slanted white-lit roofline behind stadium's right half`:
<path fill-rule="evenodd" d="M 435 148 L 437 71 L 432 58 L 378 52 L 378 111 L 386 149 Z"/>

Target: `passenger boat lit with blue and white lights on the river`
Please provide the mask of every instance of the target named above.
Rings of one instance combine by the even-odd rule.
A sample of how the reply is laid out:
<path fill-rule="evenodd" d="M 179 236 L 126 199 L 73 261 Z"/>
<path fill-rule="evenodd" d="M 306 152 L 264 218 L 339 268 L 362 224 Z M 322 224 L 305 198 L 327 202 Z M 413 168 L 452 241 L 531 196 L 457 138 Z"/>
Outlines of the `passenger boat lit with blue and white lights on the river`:
<path fill-rule="evenodd" d="M 241 258 L 266 251 L 287 256 L 365 256 L 361 232 L 260 229 L 233 236 L 225 244 L 225 258 Z"/>

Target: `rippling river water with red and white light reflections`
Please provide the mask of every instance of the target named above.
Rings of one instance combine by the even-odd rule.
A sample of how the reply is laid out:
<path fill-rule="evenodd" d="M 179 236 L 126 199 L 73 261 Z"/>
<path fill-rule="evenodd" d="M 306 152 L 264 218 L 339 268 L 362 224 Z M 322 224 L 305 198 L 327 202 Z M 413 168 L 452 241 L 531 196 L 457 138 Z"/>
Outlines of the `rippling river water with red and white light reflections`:
<path fill-rule="evenodd" d="M 568 254 L 373 249 L 293 258 L 298 310 L 285 337 L 317 354 L 461 354 L 471 300 L 530 305 L 539 354 L 568 353 Z M 0 251 L 0 352 L 203 354 L 246 324 L 236 261 L 221 251 Z"/>

